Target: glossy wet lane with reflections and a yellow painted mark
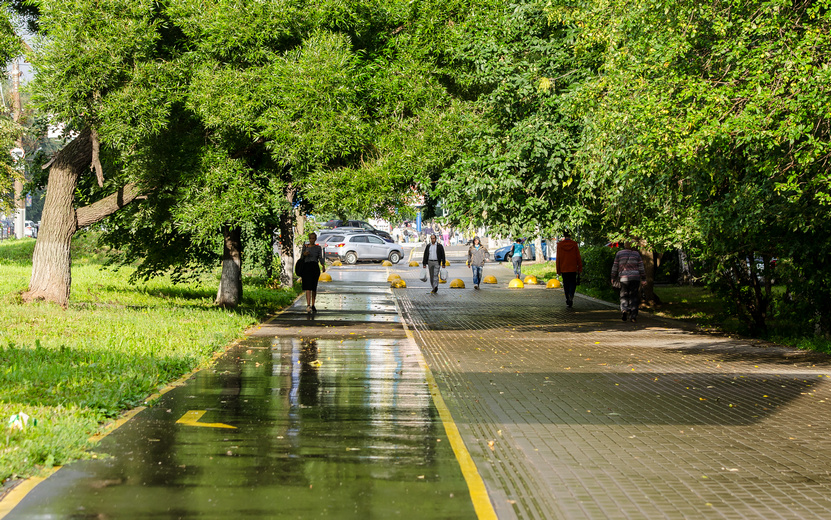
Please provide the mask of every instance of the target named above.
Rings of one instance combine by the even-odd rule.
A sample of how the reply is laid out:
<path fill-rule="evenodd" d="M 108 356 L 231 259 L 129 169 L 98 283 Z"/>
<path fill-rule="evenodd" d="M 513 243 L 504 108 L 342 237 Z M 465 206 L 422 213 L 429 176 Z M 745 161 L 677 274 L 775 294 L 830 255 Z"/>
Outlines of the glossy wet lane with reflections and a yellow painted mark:
<path fill-rule="evenodd" d="M 301 300 L 7 518 L 475 518 L 388 290 L 325 289 L 302 335 Z"/>

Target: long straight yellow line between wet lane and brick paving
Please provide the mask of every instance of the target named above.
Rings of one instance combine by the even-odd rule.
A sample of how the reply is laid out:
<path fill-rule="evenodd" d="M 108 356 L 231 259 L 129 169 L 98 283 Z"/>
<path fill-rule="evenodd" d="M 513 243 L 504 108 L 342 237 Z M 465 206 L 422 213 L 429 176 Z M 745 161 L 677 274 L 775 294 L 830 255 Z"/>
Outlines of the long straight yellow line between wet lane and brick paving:
<path fill-rule="evenodd" d="M 418 347 L 413 333 L 407 327 L 403 318 L 401 323 L 404 326 L 404 332 L 407 334 L 407 338 L 409 338 L 419 353 L 418 363 L 424 370 L 424 377 L 427 379 L 430 395 L 433 397 L 433 404 L 439 412 L 441 422 L 444 424 L 444 431 L 447 433 L 447 440 L 450 441 L 450 446 L 453 448 L 456 460 L 459 461 L 462 475 L 465 477 L 465 482 L 467 482 L 467 488 L 470 491 L 470 499 L 473 502 L 476 517 L 479 520 L 497 520 L 496 511 L 493 509 L 493 504 L 491 504 L 485 482 L 482 480 L 482 476 L 476 468 L 476 463 L 473 462 L 473 457 L 470 456 L 470 453 L 465 447 L 465 441 L 462 440 L 462 435 L 459 433 L 456 421 L 453 420 L 453 416 L 450 414 L 450 410 L 447 408 L 441 392 L 439 392 L 439 385 L 433 377 L 433 371 L 427 365 L 427 361 L 425 361 L 424 355 L 421 354 L 421 349 Z"/>

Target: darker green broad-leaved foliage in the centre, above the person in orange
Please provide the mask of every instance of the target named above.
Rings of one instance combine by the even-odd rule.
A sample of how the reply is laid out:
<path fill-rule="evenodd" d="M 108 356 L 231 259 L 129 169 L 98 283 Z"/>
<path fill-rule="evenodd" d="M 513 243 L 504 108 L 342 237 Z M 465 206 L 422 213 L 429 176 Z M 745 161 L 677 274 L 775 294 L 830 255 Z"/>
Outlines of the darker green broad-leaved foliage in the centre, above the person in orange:
<path fill-rule="evenodd" d="M 471 6 L 454 33 L 455 81 L 475 97 L 459 159 L 436 194 L 462 224 L 503 232 L 581 220 L 572 157 L 578 127 L 562 93 L 590 68 L 575 59 L 568 29 L 544 2 Z"/>

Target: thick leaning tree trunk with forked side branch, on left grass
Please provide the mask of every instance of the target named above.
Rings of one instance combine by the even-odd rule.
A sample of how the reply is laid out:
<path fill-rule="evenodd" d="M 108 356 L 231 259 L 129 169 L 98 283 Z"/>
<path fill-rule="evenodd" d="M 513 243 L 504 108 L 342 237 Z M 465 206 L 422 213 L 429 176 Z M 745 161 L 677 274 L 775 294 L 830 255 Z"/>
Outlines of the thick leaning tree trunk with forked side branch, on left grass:
<path fill-rule="evenodd" d="M 72 236 L 82 227 L 115 213 L 139 195 L 133 184 L 89 206 L 73 206 L 81 174 L 89 170 L 92 144 L 84 130 L 58 152 L 49 169 L 41 227 L 32 257 L 32 277 L 24 301 L 46 300 L 66 307 L 72 287 Z"/>

